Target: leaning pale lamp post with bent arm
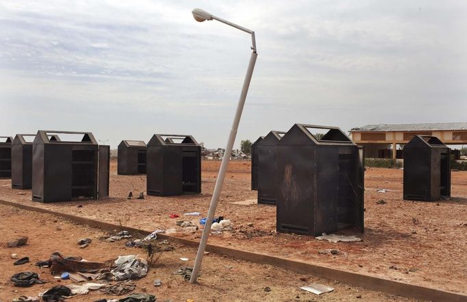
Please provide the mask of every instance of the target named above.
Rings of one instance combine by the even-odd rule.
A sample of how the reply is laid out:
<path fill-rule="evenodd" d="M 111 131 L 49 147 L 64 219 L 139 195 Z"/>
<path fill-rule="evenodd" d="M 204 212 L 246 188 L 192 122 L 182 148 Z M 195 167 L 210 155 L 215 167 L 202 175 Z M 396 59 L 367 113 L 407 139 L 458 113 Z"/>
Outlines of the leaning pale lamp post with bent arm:
<path fill-rule="evenodd" d="M 209 212 L 207 213 L 207 219 L 206 224 L 204 226 L 203 235 L 201 236 L 201 241 L 199 242 L 197 257 L 194 260 L 194 267 L 190 278 L 191 284 L 195 283 L 198 279 L 199 270 L 201 268 L 201 262 L 203 261 L 203 255 L 206 249 L 207 238 L 210 235 L 212 220 L 214 219 L 214 214 L 216 212 L 220 191 L 222 190 L 222 186 L 224 183 L 225 173 L 227 172 L 227 165 L 229 164 L 232 148 L 234 147 L 235 137 L 237 136 L 238 124 L 240 123 L 240 117 L 242 116 L 242 110 L 243 105 L 245 103 L 245 99 L 247 99 L 251 75 L 253 75 L 253 69 L 255 68 L 255 62 L 257 58 L 255 32 L 245 27 L 241 27 L 240 25 L 236 25 L 227 20 L 224 20 L 223 18 L 218 18 L 210 14 L 209 12 L 200 10 L 199 8 L 195 8 L 192 11 L 192 14 L 194 20 L 198 22 L 203 22 L 206 20 L 217 20 L 219 22 L 230 25 L 231 27 L 235 27 L 236 29 L 240 29 L 243 32 L 251 34 L 251 49 L 253 50 L 253 52 L 251 53 L 250 62 L 248 64 L 247 75 L 245 75 L 245 79 L 243 81 L 242 92 L 240 93 L 240 99 L 238 100 L 237 110 L 234 116 L 234 123 L 232 123 L 232 129 L 230 130 L 229 139 L 227 140 L 227 146 L 225 147 L 222 163 L 220 164 L 219 175 L 216 180 L 216 186 L 214 187 L 214 193 L 212 194 L 212 199 L 209 207 Z"/>

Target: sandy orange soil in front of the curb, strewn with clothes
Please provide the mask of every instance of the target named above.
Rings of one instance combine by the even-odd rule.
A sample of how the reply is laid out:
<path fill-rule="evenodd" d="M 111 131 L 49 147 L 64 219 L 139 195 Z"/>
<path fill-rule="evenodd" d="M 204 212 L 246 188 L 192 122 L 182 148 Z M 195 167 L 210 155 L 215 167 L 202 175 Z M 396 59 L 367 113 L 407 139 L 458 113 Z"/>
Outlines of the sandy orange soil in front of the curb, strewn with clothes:
<path fill-rule="evenodd" d="M 38 268 L 34 265 L 38 260 L 46 260 L 54 251 L 60 251 L 64 255 L 80 255 L 86 260 L 97 262 L 113 260 L 118 255 L 140 254 L 144 256 L 142 249 L 125 247 L 125 240 L 118 242 L 99 240 L 99 237 L 105 235 L 99 229 L 75 225 L 50 214 L 0 205 L 0 217 L 2 238 L 29 236 L 27 245 L 23 247 L 8 248 L 1 244 L 0 301 L 12 301 L 20 295 L 36 296 L 39 292 L 44 292 L 58 284 L 73 284 L 71 280 L 61 280 L 58 283 L 49 272 L 49 268 Z M 79 249 L 77 240 L 86 237 L 91 238 L 92 242 L 86 249 Z M 194 301 L 415 301 L 213 253 L 204 258 L 199 284 L 190 285 L 181 275 L 173 273 L 187 265 L 187 262 L 181 261 L 180 257 L 188 257 L 192 260 L 196 255 L 196 249 L 173 242 L 169 242 L 169 246 L 175 249 L 162 253 L 159 260 L 149 268 L 148 275 L 135 281 L 134 292 L 154 294 L 157 301 L 186 301 L 186 299 L 194 299 Z M 17 253 L 19 257 L 28 256 L 31 262 L 14 266 L 11 253 Z M 10 282 L 10 277 L 14 273 L 23 271 L 38 273 L 40 278 L 46 280 L 47 283 L 36 284 L 31 288 L 15 288 Z M 153 281 L 156 279 L 162 281 L 162 286 L 157 288 L 153 286 Z M 316 296 L 299 289 L 301 286 L 312 283 L 325 284 L 336 290 Z M 269 292 L 264 290 L 267 287 L 270 288 Z M 68 301 L 89 302 L 126 296 L 112 297 L 99 291 L 91 291 L 87 295 L 75 296 Z"/>

